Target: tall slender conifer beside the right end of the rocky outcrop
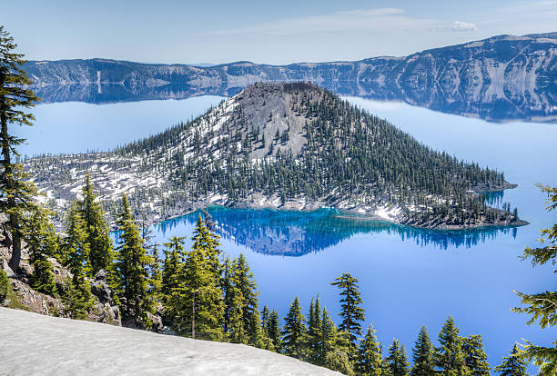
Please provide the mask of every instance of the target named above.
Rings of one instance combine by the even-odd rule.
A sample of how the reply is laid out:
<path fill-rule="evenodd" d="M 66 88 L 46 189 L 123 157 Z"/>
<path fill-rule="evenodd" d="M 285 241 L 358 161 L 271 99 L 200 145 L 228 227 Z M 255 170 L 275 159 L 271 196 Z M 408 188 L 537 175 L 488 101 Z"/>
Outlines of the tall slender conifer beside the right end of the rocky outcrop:
<path fill-rule="evenodd" d="M 123 304 L 122 318 L 135 326 L 150 327 L 147 312 L 152 312 L 152 297 L 148 293 L 148 268 L 153 263 L 147 255 L 145 242 L 137 229 L 127 202 L 122 194 L 120 213 L 116 218 L 120 232 L 116 268 L 122 288 L 120 300 Z"/>

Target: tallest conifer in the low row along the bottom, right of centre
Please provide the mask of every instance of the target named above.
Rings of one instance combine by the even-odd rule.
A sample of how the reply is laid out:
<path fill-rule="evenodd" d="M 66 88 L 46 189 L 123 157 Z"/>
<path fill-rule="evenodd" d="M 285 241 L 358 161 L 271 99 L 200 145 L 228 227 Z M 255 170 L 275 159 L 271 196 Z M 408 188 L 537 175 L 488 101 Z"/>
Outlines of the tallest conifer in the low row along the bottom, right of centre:
<path fill-rule="evenodd" d="M 454 319 L 449 316 L 439 333 L 440 347 L 435 352 L 435 364 L 440 369 L 438 372 L 440 375 L 461 376 L 466 374 L 461 342 L 459 328 L 454 323 Z"/>

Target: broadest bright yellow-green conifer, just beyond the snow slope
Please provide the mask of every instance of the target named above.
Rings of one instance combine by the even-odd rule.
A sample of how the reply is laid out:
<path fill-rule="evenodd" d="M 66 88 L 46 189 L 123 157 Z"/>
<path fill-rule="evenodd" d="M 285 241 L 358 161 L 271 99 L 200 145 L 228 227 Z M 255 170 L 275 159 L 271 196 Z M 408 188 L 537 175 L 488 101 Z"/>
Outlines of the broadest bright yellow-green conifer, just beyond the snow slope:
<path fill-rule="evenodd" d="M 219 286 L 218 254 L 206 224 L 199 215 L 191 251 L 177 273 L 177 288 L 171 292 L 169 304 L 175 314 L 174 324 L 180 334 L 191 338 L 220 341 L 223 338 L 224 306 Z"/>

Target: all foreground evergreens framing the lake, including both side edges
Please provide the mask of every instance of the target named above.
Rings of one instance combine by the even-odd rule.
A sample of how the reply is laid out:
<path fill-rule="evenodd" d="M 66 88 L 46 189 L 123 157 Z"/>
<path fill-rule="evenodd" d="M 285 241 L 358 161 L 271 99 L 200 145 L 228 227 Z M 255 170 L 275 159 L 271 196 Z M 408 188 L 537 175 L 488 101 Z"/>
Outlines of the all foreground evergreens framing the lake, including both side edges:
<path fill-rule="evenodd" d="M 18 163 L 16 146 L 25 140 L 8 132 L 8 124 L 30 125 L 33 115 L 25 108 L 37 98 L 25 85 L 29 83 L 21 65 L 22 54 L 15 54 L 13 38 L 0 26 L 0 209 L 5 245 L 11 250 L 10 268 L 19 272 L 22 244 L 26 242 L 33 267 L 31 285 L 39 292 L 59 296 L 66 314 L 86 318 L 91 307 L 90 282 L 96 273 L 106 271 L 114 299 L 129 326 L 149 328 L 158 312 L 178 335 L 216 341 L 247 343 L 279 351 L 303 361 L 311 361 L 347 374 L 487 374 L 489 365 L 481 336 L 459 336 L 451 317 L 433 347 L 422 328 L 412 353 L 410 367 L 403 345 L 395 340 L 388 356 L 370 326 L 361 336 L 364 322 L 358 280 L 348 273 L 331 284 L 339 288 L 340 318 L 337 327 L 319 296 L 309 304 L 308 320 L 298 297 L 289 306 L 281 326 L 279 314 L 264 307 L 258 310 L 258 292 L 253 273 L 243 255 L 230 260 L 219 250 L 218 235 L 207 214 L 199 215 L 193 245 L 185 249 L 183 238 L 172 238 L 165 247 L 164 261 L 158 260 L 158 245 L 149 241 L 148 231 L 140 228 L 126 195 L 118 205 L 116 245 L 111 241 L 105 212 L 96 198 L 90 178 L 86 178 L 80 198 L 66 213 L 66 232 L 56 233 L 51 213 L 37 200 L 35 185 Z M 334 115 L 334 114 L 329 114 Z M 473 168 L 472 168 L 473 170 Z M 502 178 L 502 176 L 501 176 Z M 548 210 L 557 207 L 557 188 L 542 187 L 548 193 Z M 542 230 L 542 247 L 527 248 L 522 258 L 533 266 L 557 258 L 557 226 Z M 62 285 L 55 283 L 55 257 L 71 272 Z M 10 295 L 10 283 L 0 269 L 0 302 Z M 556 292 L 519 292 L 522 307 L 516 312 L 531 315 L 532 324 L 542 328 L 557 323 Z M 158 310 L 158 312 L 157 312 Z M 360 341 L 359 341 L 360 340 Z M 557 345 L 553 342 L 552 345 Z M 525 374 L 525 361 L 534 360 L 542 374 L 557 371 L 557 349 L 527 342 L 524 349 L 513 347 L 509 357 L 495 367 L 502 375 Z"/>

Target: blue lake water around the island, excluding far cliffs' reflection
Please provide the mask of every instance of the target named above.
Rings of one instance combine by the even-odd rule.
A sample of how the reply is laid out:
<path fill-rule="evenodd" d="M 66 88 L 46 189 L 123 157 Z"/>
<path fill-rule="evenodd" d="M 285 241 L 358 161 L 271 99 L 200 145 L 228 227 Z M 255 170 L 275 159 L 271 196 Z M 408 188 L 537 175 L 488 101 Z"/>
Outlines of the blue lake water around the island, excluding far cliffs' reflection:
<path fill-rule="evenodd" d="M 106 150 L 155 134 L 171 124 L 201 114 L 220 97 L 121 104 L 42 104 L 22 153 L 76 153 Z M 342 272 L 360 280 L 366 323 L 373 322 L 387 347 L 393 337 L 413 347 L 421 325 L 436 338 L 450 314 L 461 335 L 482 334 L 491 365 L 522 338 L 554 341 L 554 330 L 527 326 L 527 317 L 510 311 L 519 300 L 513 290 L 554 288 L 551 267 L 521 262 L 525 246 L 536 246 L 540 229 L 556 221 L 545 211 L 545 195 L 535 183 L 557 185 L 557 125 L 491 124 L 408 104 L 349 100 L 388 119 L 422 143 L 467 161 L 504 171 L 519 187 L 498 203 L 517 206 L 531 224 L 515 229 L 434 232 L 385 222 L 362 222 L 340 213 L 230 210 L 210 208 L 222 234 L 222 250 L 243 252 L 258 282 L 260 305 L 283 315 L 299 295 L 307 310 L 319 293 L 321 302 L 339 312 L 338 292 L 329 285 Z M 197 213 L 155 226 L 157 242 L 190 236 Z"/>

